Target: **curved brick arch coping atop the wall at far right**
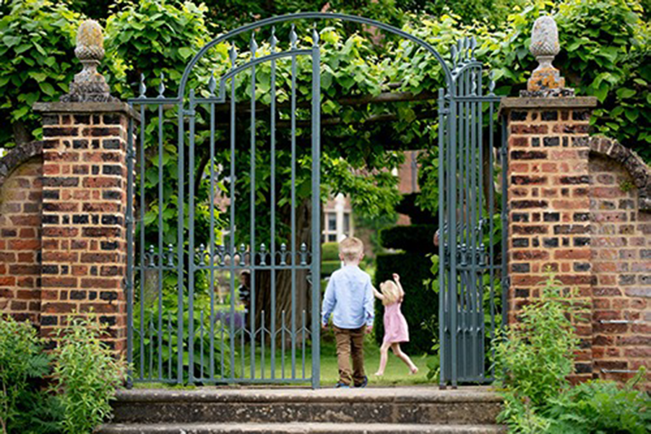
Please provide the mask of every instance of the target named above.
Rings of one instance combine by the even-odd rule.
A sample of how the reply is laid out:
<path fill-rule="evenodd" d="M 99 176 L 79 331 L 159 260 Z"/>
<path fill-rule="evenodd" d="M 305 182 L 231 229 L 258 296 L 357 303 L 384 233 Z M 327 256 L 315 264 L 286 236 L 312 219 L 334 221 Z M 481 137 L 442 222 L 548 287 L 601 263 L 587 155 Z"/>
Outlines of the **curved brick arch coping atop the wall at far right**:
<path fill-rule="evenodd" d="M 590 153 L 607 156 L 624 166 L 637 187 L 639 210 L 651 212 L 651 168 L 640 156 L 609 137 L 590 137 Z"/>

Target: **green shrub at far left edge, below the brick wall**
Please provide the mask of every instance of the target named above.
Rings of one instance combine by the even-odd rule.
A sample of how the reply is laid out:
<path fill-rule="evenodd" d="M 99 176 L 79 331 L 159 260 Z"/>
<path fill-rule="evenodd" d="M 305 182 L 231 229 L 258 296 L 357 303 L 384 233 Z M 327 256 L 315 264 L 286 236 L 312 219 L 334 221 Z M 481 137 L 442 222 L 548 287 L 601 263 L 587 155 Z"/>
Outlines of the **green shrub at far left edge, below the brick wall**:
<path fill-rule="evenodd" d="M 15 431 L 30 380 L 47 373 L 48 361 L 30 323 L 16 322 L 11 316 L 0 320 L 0 426 L 5 434 Z"/>

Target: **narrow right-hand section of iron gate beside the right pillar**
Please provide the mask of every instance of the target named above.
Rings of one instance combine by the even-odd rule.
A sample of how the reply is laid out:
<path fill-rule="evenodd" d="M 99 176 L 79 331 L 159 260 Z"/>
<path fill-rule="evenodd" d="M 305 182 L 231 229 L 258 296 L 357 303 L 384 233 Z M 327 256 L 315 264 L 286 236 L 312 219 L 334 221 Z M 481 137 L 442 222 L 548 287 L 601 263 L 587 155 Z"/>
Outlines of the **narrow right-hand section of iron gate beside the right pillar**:
<path fill-rule="evenodd" d="M 452 47 L 453 85 L 439 90 L 440 385 L 490 382 L 486 347 L 505 321 L 506 173 L 495 194 L 495 155 L 505 168 L 505 130 L 496 127 L 495 82 L 483 94 L 474 39 Z M 501 125 L 501 124 L 497 124 Z M 495 137 L 499 147 L 495 147 Z M 500 297 L 501 296 L 501 297 Z"/>

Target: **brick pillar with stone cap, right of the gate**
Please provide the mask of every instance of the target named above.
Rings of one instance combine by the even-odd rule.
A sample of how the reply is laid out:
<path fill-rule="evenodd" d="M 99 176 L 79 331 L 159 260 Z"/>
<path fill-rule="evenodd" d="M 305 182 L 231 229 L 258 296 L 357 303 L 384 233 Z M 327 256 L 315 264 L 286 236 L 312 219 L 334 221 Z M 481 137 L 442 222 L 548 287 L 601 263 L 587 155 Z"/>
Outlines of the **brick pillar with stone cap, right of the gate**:
<path fill-rule="evenodd" d="M 502 102 L 509 133 L 509 322 L 528 297 L 539 297 L 547 270 L 564 287 L 576 288 L 587 309 L 575 323 L 580 378 L 592 373 L 588 127 L 595 105 L 585 97 Z"/>

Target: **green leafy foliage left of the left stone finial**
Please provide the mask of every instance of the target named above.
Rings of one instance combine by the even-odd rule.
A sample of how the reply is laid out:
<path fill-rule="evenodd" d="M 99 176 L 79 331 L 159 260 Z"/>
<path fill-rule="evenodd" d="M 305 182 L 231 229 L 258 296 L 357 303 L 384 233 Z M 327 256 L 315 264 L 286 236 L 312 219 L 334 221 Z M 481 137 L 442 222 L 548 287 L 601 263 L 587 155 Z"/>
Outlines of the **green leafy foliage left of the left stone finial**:
<path fill-rule="evenodd" d="M 79 61 L 72 56 L 80 14 L 50 0 L 14 0 L 0 16 L 0 147 L 40 136 L 36 101 L 68 91 Z"/>

